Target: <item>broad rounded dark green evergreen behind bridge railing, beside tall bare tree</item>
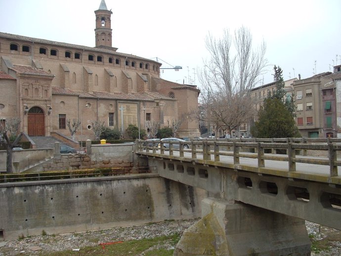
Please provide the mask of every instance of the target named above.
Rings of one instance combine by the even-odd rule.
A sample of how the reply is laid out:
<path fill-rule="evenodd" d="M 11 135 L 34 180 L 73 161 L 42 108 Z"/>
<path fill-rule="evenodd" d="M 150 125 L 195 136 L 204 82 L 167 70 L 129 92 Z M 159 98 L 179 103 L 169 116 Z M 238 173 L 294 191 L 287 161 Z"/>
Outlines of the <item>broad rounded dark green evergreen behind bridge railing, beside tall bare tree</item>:
<path fill-rule="evenodd" d="M 295 119 L 285 103 L 277 98 L 267 98 L 258 111 L 258 121 L 252 128 L 257 138 L 300 137 Z"/>

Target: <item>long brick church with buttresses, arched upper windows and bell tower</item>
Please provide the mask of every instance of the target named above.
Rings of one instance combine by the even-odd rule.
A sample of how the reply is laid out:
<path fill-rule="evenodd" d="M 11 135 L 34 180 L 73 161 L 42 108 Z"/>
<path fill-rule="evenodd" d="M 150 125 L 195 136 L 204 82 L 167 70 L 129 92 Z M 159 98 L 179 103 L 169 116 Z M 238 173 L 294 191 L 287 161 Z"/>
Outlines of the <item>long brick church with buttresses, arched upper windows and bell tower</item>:
<path fill-rule="evenodd" d="M 0 32 L 0 118 L 19 117 L 30 136 L 70 137 L 67 120 L 79 120 L 76 140 L 94 139 L 92 123 L 126 130 L 146 121 L 168 126 L 184 118 L 177 137 L 198 136 L 200 90 L 160 78 L 161 63 L 112 47 L 111 10 L 95 11 L 95 47 Z"/>

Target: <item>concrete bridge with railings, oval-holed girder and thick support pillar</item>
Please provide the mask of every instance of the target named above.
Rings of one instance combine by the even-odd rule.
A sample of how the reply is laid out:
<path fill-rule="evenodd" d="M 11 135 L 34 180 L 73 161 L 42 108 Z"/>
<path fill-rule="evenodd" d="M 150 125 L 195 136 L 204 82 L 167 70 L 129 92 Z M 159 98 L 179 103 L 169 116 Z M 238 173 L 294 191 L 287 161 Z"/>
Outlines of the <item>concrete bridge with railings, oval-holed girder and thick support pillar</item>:
<path fill-rule="evenodd" d="M 310 255 L 304 220 L 341 229 L 340 151 L 336 139 L 202 140 L 168 151 L 136 141 L 160 176 L 208 191 L 179 256 Z"/>

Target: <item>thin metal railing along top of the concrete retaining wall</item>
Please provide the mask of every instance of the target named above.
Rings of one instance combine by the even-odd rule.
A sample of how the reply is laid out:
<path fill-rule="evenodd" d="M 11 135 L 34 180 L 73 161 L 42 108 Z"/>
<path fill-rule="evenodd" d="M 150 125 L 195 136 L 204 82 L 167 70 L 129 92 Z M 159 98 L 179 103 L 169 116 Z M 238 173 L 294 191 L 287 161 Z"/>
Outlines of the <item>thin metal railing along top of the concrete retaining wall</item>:
<path fill-rule="evenodd" d="M 32 172 L 32 173 L 20 173 L 20 174 L 0 174 L 0 183 L 131 175 L 131 174 L 150 173 L 153 170 L 155 170 L 155 167 L 138 167 L 138 168 L 118 167 L 118 168 L 103 168 L 103 169 L 86 169 L 86 170 L 84 169 L 84 170 L 74 170 L 74 171 L 46 171 L 46 172 Z"/>

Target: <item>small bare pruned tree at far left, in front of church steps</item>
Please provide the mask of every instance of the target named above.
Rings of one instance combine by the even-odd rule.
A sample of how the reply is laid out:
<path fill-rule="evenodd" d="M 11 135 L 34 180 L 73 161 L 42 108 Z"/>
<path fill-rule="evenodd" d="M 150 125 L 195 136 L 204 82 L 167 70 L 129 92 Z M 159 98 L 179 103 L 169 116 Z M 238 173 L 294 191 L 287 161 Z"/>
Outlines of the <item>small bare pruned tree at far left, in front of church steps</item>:
<path fill-rule="evenodd" d="M 10 118 L 2 122 L 0 121 L 0 142 L 6 147 L 6 170 L 12 172 L 12 152 L 13 147 L 19 142 L 22 133 L 17 135 L 20 128 L 19 118 Z"/>

